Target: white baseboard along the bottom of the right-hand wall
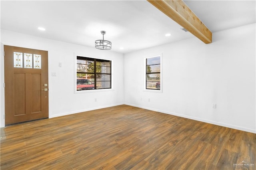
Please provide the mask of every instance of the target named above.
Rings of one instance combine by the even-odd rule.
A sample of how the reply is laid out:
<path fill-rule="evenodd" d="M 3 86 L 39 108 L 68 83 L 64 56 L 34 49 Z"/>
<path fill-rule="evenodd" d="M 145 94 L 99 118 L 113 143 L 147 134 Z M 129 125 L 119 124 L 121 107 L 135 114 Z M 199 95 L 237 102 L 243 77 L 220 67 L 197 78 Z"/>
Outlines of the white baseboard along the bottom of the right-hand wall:
<path fill-rule="evenodd" d="M 222 127 L 228 127 L 228 128 L 233 128 L 233 129 L 237 129 L 237 130 L 246 131 L 246 132 L 256 133 L 255 129 L 244 128 L 244 127 L 239 127 L 239 126 L 230 125 L 230 124 L 226 124 L 226 123 L 210 121 L 210 120 L 207 120 L 207 119 L 200 119 L 200 118 L 197 118 L 197 117 L 191 117 L 191 116 L 182 115 L 182 114 L 179 114 L 179 113 L 173 113 L 173 112 L 163 111 L 163 110 L 159 110 L 159 109 L 153 109 L 153 108 L 150 108 L 150 107 L 143 107 L 143 106 L 139 106 L 139 105 L 133 105 L 133 104 L 130 104 L 130 103 L 124 103 L 124 105 L 139 107 L 139 108 L 142 108 L 142 109 L 147 109 L 147 110 L 151 110 L 151 111 L 165 113 L 165 114 L 168 114 L 168 115 L 184 117 L 184 118 L 187 118 L 187 119 L 192 119 L 192 120 L 200 121 L 200 122 L 204 122 L 204 123 L 210 123 L 210 124 L 218 125 L 218 126 L 222 126 Z"/>

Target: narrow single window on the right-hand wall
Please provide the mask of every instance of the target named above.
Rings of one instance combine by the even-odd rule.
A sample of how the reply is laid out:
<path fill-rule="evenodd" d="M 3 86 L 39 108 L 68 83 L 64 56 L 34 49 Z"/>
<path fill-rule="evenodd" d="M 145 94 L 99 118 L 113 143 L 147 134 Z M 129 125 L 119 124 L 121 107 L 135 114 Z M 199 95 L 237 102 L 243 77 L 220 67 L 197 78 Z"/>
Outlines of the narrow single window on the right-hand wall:
<path fill-rule="evenodd" d="M 161 89 L 161 57 L 146 58 L 146 89 Z"/>

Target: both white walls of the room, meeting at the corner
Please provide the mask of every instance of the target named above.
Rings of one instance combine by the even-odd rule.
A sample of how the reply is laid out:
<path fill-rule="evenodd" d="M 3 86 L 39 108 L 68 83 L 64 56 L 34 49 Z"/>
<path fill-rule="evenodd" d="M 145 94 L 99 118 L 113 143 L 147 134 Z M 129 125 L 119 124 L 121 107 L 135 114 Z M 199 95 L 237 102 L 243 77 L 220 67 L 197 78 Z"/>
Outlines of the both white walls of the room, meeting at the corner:
<path fill-rule="evenodd" d="M 214 33 L 213 43 L 207 45 L 192 38 L 125 55 L 7 30 L 1 30 L 1 43 L 48 51 L 49 117 L 126 103 L 256 132 L 255 24 Z M 74 93 L 74 53 L 113 60 L 114 90 Z M 144 57 L 160 54 L 163 92 L 143 91 Z M 4 126 L 2 64 L 1 58 L 0 127 Z"/>

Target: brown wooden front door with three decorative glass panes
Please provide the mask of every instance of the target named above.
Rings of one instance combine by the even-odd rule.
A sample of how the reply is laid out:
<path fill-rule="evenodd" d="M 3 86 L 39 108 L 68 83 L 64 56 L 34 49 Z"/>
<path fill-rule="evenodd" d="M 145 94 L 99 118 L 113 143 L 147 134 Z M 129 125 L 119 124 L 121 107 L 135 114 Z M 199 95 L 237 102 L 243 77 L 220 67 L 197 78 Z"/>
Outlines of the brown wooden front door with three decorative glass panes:
<path fill-rule="evenodd" d="M 48 51 L 4 45 L 5 125 L 48 118 Z"/>

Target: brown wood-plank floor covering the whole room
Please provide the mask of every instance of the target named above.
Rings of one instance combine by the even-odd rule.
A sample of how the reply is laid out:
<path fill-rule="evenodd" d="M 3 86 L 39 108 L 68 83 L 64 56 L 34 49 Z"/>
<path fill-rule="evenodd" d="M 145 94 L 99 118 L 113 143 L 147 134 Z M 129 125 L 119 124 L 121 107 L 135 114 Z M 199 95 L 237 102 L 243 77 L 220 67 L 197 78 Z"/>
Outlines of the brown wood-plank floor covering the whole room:
<path fill-rule="evenodd" d="M 256 169 L 256 134 L 120 105 L 1 128 L 1 170 Z"/>

